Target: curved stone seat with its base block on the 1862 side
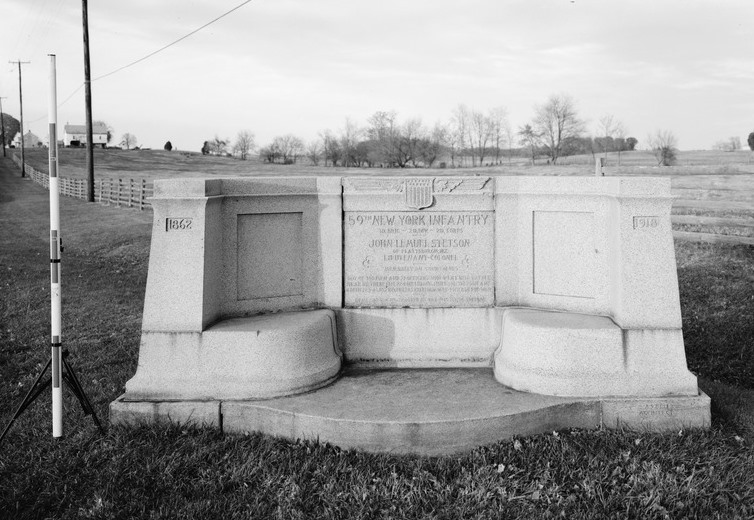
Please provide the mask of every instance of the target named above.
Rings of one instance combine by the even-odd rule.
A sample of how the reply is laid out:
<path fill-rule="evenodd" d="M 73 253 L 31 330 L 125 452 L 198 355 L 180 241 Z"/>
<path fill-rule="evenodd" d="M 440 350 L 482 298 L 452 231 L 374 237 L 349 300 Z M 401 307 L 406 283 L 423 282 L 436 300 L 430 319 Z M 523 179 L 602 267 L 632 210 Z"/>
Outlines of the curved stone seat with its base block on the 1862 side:
<path fill-rule="evenodd" d="M 327 309 L 233 318 L 198 334 L 144 335 L 125 401 L 292 395 L 330 383 L 341 366 Z"/>

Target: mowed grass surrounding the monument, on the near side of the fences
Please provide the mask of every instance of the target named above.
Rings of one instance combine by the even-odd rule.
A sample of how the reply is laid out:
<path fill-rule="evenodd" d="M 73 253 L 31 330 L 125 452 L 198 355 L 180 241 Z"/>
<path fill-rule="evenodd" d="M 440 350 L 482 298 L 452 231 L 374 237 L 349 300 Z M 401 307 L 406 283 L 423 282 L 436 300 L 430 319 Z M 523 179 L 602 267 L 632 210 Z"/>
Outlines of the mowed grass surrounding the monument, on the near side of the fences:
<path fill-rule="evenodd" d="M 48 219 L 47 191 L 0 159 L 2 427 L 49 357 Z M 151 212 L 64 197 L 61 221 L 63 343 L 106 422 L 136 368 Z M 47 390 L 0 446 L 0 518 L 752 518 L 754 248 L 676 255 L 708 431 L 567 430 L 421 458 L 186 425 L 102 436 L 66 392 L 55 441 Z"/>

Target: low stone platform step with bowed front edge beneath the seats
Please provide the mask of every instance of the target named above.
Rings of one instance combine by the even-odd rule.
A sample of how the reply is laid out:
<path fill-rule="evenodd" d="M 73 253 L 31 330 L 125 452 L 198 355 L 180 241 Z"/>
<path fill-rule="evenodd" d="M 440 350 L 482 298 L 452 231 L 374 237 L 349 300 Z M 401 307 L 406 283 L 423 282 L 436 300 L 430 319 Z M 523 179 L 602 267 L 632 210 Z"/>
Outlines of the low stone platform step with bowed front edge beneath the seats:
<path fill-rule="evenodd" d="M 225 432 L 319 439 L 372 452 L 447 455 L 563 428 L 708 427 L 709 397 L 569 398 L 511 390 L 491 369 L 348 367 L 333 384 L 259 401 L 144 402 L 118 399 L 112 423 L 171 419 Z"/>

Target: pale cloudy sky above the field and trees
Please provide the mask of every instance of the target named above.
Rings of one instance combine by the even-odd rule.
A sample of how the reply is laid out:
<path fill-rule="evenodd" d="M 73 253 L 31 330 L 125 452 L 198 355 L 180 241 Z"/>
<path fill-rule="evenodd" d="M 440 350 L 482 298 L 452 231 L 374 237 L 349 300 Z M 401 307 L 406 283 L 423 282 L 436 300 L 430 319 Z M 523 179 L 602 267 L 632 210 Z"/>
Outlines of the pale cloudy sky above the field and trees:
<path fill-rule="evenodd" d="M 514 132 L 552 95 L 590 134 L 612 115 L 627 136 L 671 131 L 681 150 L 754 131 L 751 0 L 243 0 L 89 2 L 94 120 L 117 144 L 199 151 L 251 131 L 258 146 L 338 133 L 377 111 L 447 122 L 461 103 L 505 107 Z M 79 0 L 4 0 L 0 96 L 47 134 L 50 59 L 59 128 L 84 124 Z M 105 76 L 106 77 L 101 77 Z M 78 89 L 78 90 L 77 90 Z M 62 138 L 62 130 L 59 138 Z"/>

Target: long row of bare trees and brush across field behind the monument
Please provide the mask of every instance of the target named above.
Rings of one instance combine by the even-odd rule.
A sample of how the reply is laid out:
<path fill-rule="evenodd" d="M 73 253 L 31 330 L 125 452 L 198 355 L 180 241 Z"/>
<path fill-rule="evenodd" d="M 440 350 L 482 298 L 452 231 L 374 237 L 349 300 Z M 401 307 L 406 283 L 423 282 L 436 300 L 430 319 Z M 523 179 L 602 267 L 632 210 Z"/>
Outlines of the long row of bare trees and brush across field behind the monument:
<path fill-rule="evenodd" d="M 543 159 L 556 164 L 568 155 L 620 154 L 637 144 L 612 115 L 600 118 L 595 133 L 587 135 L 574 100 L 560 94 L 535 107 L 532 120 L 515 129 L 505 107 L 481 111 L 459 104 L 446 121 L 432 125 L 419 117 L 400 120 L 395 111 L 378 111 L 364 125 L 346 118 L 339 131 L 323 130 L 308 142 L 286 134 L 257 149 L 253 134 L 243 131 L 234 143 L 217 136 L 205 141 L 202 153 L 246 158 L 256 150 L 268 163 L 305 159 L 324 166 L 431 168 L 497 165 L 521 155 L 532 163 Z"/>

